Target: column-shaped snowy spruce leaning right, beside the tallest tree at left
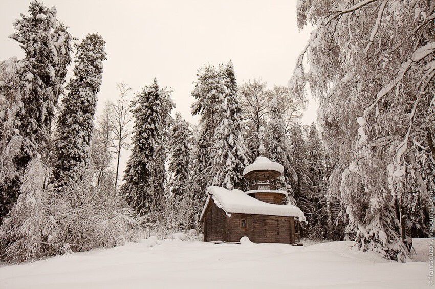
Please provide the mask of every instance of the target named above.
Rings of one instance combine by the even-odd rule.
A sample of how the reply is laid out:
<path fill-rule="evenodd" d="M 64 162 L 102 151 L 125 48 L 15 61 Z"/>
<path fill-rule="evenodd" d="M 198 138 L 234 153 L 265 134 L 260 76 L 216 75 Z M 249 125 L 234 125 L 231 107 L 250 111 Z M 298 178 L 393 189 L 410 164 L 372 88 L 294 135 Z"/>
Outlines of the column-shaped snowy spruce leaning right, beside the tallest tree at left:
<path fill-rule="evenodd" d="M 105 41 L 98 34 L 88 34 L 77 45 L 74 77 L 67 85 L 57 122 L 57 162 L 54 180 L 71 184 L 83 179 L 90 164 L 90 145 L 94 129 L 97 93 L 103 73 Z"/>

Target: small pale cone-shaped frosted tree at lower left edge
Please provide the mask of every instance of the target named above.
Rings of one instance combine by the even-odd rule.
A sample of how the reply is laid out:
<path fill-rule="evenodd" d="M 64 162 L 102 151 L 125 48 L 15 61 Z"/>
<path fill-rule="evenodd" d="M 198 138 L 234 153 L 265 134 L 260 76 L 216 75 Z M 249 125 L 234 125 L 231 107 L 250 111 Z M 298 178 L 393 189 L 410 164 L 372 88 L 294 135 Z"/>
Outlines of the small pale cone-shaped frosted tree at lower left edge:
<path fill-rule="evenodd" d="M 25 171 L 17 203 L 0 227 L 1 260 L 23 262 L 59 253 L 58 226 L 48 215 L 44 191 L 47 172 L 38 154 Z"/>

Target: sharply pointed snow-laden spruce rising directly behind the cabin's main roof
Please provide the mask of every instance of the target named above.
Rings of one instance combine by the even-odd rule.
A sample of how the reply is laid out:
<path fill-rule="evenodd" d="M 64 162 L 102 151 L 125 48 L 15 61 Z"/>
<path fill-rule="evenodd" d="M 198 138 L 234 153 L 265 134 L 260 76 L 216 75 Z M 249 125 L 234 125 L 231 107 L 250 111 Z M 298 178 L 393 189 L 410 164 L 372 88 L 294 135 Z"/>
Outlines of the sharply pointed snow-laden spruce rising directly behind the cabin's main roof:
<path fill-rule="evenodd" d="M 242 109 L 237 98 L 237 83 L 231 61 L 223 68 L 221 78 L 225 86 L 221 110 L 225 115 L 213 136 L 212 184 L 228 190 L 246 190 L 248 184 L 242 173 L 248 165 L 248 149 L 243 137 Z"/>

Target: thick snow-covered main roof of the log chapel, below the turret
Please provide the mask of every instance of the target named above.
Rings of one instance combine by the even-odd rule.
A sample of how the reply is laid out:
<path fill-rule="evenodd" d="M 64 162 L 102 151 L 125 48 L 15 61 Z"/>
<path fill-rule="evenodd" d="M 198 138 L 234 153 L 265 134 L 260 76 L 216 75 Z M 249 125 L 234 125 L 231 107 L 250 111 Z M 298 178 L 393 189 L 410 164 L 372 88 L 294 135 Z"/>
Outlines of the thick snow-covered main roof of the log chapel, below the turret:
<path fill-rule="evenodd" d="M 221 208 L 227 214 L 257 214 L 282 217 L 296 217 L 299 221 L 306 221 L 302 211 L 293 205 L 277 205 L 259 201 L 256 198 L 248 196 L 241 190 L 227 190 L 222 187 L 211 186 L 207 188 L 207 201 L 201 213 L 203 218 L 205 209 L 210 199 L 213 199 L 217 207 Z"/>

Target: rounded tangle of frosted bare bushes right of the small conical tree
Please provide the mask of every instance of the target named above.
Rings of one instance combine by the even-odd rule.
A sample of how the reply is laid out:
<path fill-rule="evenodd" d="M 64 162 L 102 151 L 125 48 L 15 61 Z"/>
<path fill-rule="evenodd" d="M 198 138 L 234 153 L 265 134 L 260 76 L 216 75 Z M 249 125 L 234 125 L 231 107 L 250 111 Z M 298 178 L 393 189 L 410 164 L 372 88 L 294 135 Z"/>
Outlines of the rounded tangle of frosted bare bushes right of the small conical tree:
<path fill-rule="evenodd" d="M 52 206 L 56 223 L 64 232 L 63 243 L 73 251 L 114 247 L 136 240 L 135 212 L 128 209 L 113 184 L 94 188 L 90 177 L 56 189 Z"/>

